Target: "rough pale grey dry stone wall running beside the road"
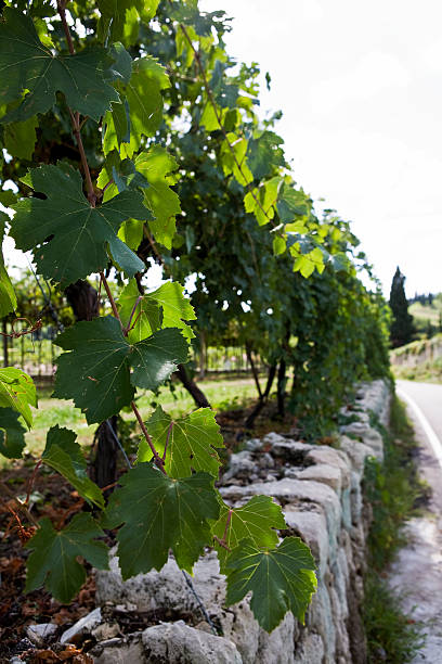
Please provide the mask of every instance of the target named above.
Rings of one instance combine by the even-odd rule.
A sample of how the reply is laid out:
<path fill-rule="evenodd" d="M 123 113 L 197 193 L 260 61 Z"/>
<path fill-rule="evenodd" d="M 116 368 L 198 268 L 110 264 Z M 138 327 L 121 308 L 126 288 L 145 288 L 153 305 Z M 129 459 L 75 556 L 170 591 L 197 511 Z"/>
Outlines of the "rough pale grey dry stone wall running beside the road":
<path fill-rule="evenodd" d="M 343 409 L 336 446 L 308 445 L 275 433 L 251 439 L 231 458 L 221 493 L 233 506 L 268 495 L 283 507 L 287 531 L 300 536 L 317 563 L 317 592 L 300 625 L 291 614 L 270 635 L 255 621 L 248 600 L 225 608 L 225 580 L 217 557 L 194 570 L 197 596 L 223 636 L 203 620 L 197 597 L 174 560 L 161 572 L 122 582 L 117 558 L 96 572 L 96 601 L 162 616 L 162 622 L 125 638 L 99 642 L 98 664 L 363 664 L 365 638 L 360 615 L 365 540 L 370 521 L 362 480 L 366 457 L 382 459 L 382 438 L 370 412 L 387 422 L 389 390 L 382 381 L 361 385 L 355 404 Z M 169 620 L 165 618 L 168 617 Z M 91 653 L 90 653 L 91 654 Z"/>

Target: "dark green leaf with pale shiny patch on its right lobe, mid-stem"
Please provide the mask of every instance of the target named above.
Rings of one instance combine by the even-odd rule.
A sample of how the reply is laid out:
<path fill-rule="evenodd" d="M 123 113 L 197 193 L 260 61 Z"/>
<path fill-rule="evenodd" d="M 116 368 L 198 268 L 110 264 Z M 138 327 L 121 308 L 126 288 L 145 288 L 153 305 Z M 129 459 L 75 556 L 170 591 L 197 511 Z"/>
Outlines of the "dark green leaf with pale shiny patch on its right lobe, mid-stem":
<path fill-rule="evenodd" d="M 55 343 L 72 353 L 57 359 L 54 396 L 74 399 L 89 424 L 129 406 L 134 386 L 156 390 L 188 353 L 187 343 L 173 328 L 131 345 L 113 316 L 78 322 Z"/>

